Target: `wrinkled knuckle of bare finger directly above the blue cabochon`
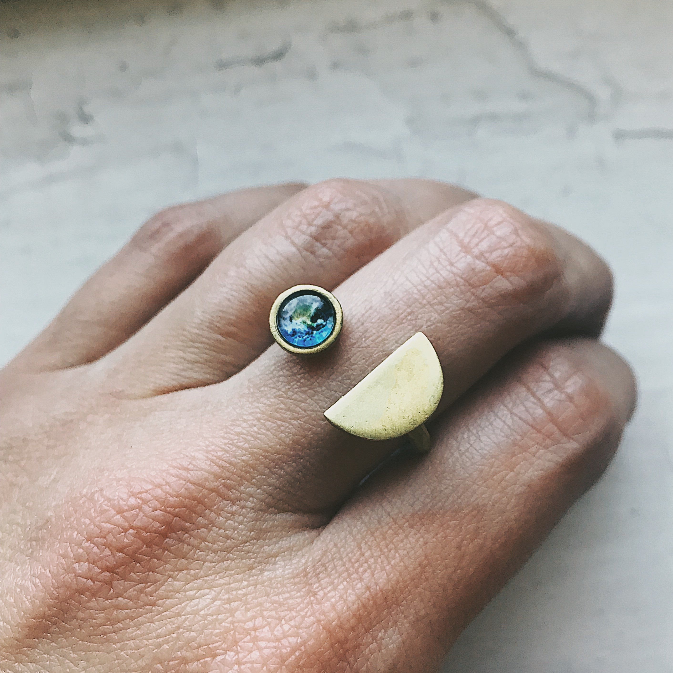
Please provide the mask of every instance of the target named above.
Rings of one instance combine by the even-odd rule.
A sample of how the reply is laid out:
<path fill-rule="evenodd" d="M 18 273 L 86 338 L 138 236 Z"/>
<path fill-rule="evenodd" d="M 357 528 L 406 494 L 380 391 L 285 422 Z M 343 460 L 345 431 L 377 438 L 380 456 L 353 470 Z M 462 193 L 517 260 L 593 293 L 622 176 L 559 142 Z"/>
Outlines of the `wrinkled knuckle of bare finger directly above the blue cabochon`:
<path fill-rule="evenodd" d="M 318 258 L 345 252 L 377 254 L 399 238 L 404 217 L 393 194 L 359 180 L 333 179 L 303 192 L 289 214 L 286 234 L 304 253 Z"/>

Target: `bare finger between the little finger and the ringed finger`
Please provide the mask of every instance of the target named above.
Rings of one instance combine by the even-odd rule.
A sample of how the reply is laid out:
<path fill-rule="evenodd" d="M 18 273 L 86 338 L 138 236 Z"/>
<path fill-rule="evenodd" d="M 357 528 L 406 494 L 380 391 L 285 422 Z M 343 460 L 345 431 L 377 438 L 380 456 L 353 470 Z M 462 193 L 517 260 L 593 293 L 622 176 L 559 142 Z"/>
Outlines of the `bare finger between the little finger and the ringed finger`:
<path fill-rule="evenodd" d="M 299 283 L 334 287 L 411 229 L 473 197 L 429 180 L 331 180 L 308 188 L 225 248 L 112 354 L 104 376 L 131 396 L 225 380 L 271 343 L 269 310 L 282 291 Z"/>

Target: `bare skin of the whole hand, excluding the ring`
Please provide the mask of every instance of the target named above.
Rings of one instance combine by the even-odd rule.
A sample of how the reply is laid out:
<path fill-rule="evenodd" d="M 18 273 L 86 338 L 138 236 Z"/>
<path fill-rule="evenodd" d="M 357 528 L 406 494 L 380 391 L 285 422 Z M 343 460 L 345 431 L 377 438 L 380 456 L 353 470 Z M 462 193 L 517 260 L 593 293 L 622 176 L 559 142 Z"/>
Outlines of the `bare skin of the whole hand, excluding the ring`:
<path fill-rule="evenodd" d="M 298 283 L 345 312 L 306 359 L 268 327 Z M 0 373 L 0 670 L 436 670 L 618 445 L 611 296 L 567 232 L 438 182 L 160 213 Z M 322 412 L 418 331 L 433 448 L 385 460 Z"/>

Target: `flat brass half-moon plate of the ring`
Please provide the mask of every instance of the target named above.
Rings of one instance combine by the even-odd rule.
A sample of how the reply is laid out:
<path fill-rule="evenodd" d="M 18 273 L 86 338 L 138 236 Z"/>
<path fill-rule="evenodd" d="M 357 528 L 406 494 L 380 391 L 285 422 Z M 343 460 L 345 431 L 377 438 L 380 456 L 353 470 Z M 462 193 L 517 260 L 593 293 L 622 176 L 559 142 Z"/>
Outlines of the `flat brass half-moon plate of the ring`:
<path fill-rule="evenodd" d="M 443 390 L 437 353 L 418 332 L 332 404 L 325 416 L 351 435 L 394 439 L 425 423 Z"/>

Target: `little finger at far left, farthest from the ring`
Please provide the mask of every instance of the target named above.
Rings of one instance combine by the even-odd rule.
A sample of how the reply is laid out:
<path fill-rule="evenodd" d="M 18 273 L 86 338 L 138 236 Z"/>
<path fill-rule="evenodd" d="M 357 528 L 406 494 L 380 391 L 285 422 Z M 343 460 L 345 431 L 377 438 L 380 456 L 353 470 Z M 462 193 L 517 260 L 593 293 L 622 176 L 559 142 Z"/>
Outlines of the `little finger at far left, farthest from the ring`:
<path fill-rule="evenodd" d="M 244 189 L 155 215 L 86 281 L 13 366 L 65 369 L 102 357 L 189 285 L 244 229 L 303 188 Z"/>

